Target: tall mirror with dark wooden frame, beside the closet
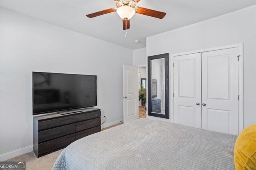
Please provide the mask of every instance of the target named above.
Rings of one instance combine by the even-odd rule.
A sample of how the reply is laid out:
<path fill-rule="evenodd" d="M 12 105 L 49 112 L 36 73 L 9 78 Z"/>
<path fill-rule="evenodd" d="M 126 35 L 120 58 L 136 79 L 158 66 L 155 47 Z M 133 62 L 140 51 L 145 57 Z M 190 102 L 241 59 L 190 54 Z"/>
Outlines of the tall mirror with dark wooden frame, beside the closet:
<path fill-rule="evenodd" d="M 169 54 L 148 57 L 148 115 L 169 119 Z"/>

